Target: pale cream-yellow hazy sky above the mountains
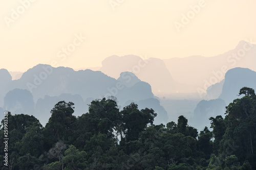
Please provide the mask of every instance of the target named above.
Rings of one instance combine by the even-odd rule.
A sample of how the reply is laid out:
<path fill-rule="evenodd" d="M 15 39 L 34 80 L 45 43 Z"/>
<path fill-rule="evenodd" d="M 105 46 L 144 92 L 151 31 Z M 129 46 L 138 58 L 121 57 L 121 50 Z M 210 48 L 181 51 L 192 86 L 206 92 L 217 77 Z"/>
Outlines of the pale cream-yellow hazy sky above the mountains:
<path fill-rule="evenodd" d="M 111 55 L 215 56 L 256 41 L 255 7 L 255 0 L 0 1 L 0 68 L 96 67 Z"/>

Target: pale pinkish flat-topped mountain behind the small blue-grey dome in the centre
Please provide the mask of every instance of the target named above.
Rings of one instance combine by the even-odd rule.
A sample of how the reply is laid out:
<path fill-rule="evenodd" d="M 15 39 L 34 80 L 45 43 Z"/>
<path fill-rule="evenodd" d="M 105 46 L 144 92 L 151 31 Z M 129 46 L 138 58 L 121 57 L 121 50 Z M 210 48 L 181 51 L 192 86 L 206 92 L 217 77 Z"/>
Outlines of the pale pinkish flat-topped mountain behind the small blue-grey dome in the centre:
<path fill-rule="evenodd" d="M 102 61 L 99 70 L 113 78 L 118 78 L 121 72 L 133 72 L 141 81 L 151 85 L 154 94 L 176 93 L 172 75 L 161 59 L 142 59 L 134 55 L 110 56 Z"/>

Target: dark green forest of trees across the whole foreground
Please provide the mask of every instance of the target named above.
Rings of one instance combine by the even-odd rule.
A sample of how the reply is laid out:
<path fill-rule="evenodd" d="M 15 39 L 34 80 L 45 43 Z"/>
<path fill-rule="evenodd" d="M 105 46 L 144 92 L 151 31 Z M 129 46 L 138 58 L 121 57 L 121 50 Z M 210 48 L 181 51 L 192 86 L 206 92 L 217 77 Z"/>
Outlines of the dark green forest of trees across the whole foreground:
<path fill-rule="evenodd" d="M 45 127 L 33 113 L 9 112 L 1 169 L 256 169 L 256 95 L 248 87 L 239 95 L 200 132 L 183 115 L 154 125 L 153 109 L 131 103 L 120 110 L 115 98 L 92 101 L 78 117 L 74 103 L 60 101 Z M 4 132 L 3 119 L 1 143 Z"/>

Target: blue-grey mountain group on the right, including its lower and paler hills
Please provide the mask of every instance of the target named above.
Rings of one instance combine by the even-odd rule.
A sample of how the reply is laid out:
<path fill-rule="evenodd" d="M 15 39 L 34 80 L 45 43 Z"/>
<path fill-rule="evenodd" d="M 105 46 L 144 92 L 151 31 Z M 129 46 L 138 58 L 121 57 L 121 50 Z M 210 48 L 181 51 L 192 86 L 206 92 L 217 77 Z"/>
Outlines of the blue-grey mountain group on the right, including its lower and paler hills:
<path fill-rule="evenodd" d="M 202 100 L 197 104 L 194 116 L 191 118 L 193 126 L 203 129 L 206 125 L 209 126 L 209 117 L 216 117 L 217 115 L 225 117 L 225 107 L 233 100 L 242 98 L 242 95 L 238 96 L 242 87 L 256 89 L 256 72 L 240 67 L 228 70 L 223 81 L 207 89 L 206 96 L 215 99 Z M 218 95 L 219 97 L 217 97 Z"/>

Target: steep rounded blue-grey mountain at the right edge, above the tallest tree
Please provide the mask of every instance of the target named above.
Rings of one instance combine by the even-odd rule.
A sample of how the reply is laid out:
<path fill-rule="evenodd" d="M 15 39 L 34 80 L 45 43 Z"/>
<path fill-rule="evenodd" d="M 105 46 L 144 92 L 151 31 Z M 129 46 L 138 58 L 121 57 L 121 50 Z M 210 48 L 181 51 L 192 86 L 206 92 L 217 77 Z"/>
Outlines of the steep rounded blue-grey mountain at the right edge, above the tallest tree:
<path fill-rule="evenodd" d="M 223 99 L 228 105 L 234 99 L 242 97 L 242 95 L 238 96 L 242 87 L 250 87 L 256 90 L 256 72 L 248 68 L 232 68 L 225 75 L 225 83 L 219 98 Z"/>

